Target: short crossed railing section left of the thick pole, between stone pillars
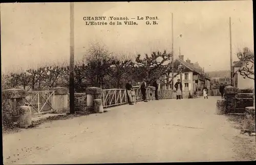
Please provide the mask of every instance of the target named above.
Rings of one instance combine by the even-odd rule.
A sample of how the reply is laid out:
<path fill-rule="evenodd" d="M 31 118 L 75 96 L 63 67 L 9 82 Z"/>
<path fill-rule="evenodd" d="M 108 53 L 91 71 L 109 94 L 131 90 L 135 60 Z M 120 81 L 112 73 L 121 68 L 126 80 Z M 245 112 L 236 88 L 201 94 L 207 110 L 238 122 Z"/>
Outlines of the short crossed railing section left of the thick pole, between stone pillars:
<path fill-rule="evenodd" d="M 25 97 L 25 105 L 32 107 L 32 114 L 54 112 L 54 103 L 54 91 L 30 91 Z"/>

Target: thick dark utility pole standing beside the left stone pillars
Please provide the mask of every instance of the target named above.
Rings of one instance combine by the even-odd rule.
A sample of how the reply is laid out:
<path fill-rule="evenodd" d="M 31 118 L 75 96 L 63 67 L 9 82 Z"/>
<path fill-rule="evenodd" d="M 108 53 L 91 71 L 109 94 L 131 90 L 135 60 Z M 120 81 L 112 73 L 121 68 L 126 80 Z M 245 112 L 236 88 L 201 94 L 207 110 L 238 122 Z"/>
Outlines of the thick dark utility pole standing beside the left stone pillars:
<path fill-rule="evenodd" d="M 70 114 L 75 113 L 75 83 L 74 83 L 74 3 L 70 3 L 70 66 L 69 66 L 69 108 L 70 108 Z"/>

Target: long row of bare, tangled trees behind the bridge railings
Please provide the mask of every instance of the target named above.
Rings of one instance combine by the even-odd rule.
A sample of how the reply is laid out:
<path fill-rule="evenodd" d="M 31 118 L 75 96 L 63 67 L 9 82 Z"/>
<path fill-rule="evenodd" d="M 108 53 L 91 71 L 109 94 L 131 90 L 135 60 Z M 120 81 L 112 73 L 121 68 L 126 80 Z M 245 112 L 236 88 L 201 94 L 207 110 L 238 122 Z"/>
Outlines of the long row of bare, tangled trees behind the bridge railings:
<path fill-rule="evenodd" d="M 83 60 L 75 65 L 75 90 L 83 91 L 94 86 L 103 89 L 124 88 L 127 79 L 140 81 L 146 78 L 152 82 L 166 75 L 162 82 L 169 86 L 172 72 L 170 58 L 172 54 L 152 52 L 137 58 L 129 58 L 122 54 L 114 54 L 99 44 L 94 44 L 84 55 Z M 175 66 L 177 67 L 177 66 Z M 180 68 L 175 75 L 182 72 Z M 47 90 L 53 87 L 69 86 L 69 66 L 54 64 L 52 66 L 27 69 L 25 72 L 2 75 L 2 88 L 22 86 L 26 90 Z"/>

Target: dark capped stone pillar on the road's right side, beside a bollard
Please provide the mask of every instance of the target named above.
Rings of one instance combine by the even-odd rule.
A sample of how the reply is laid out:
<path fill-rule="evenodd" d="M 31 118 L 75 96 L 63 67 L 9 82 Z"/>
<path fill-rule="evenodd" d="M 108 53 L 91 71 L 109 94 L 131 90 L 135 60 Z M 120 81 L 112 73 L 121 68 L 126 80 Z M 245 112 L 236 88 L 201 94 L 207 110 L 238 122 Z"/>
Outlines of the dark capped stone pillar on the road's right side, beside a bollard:
<path fill-rule="evenodd" d="M 235 113 L 237 88 L 227 86 L 224 88 L 224 99 L 226 100 L 226 113 Z"/>

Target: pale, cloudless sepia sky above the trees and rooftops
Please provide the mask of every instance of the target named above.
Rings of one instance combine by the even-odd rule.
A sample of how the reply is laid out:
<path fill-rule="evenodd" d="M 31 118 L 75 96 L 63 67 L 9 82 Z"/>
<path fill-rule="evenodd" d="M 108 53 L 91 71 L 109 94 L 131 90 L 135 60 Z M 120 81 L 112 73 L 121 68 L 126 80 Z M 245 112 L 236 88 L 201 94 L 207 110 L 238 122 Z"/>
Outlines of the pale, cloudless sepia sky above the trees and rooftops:
<path fill-rule="evenodd" d="M 179 47 L 184 60 L 198 62 L 205 71 L 230 68 L 229 17 L 232 59 L 244 46 L 253 49 L 252 1 L 75 3 L 75 60 L 92 43 L 115 54 L 133 56 Z M 137 25 L 86 25 L 83 17 L 127 17 Z M 157 25 L 131 18 L 158 17 Z M 106 22 L 110 22 L 106 20 Z M 182 34 L 182 37 L 179 37 Z M 1 3 L 2 72 L 69 63 L 69 3 Z"/>

